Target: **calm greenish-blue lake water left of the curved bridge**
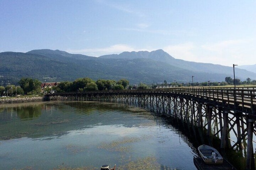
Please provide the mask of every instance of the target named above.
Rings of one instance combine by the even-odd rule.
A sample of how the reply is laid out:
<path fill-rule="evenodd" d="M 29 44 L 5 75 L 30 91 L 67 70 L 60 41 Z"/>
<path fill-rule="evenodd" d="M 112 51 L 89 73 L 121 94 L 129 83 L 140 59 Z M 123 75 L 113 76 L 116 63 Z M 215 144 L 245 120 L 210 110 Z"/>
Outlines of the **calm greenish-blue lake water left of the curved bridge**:
<path fill-rule="evenodd" d="M 192 169 L 195 149 L 144 109 L 98 102 L 0 105 L 0 169 Z"/>

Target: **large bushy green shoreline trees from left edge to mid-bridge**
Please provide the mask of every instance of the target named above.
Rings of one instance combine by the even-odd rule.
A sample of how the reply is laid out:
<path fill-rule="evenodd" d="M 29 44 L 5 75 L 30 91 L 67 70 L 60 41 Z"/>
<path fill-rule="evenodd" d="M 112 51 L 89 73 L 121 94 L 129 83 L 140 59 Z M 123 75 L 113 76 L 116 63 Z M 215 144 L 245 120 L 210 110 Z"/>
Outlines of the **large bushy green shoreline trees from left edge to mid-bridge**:
<path fill-rule="evenodd" d="M 0 86 L 1 96 L 15 96 L 15 95 L 31 95 L 40 94 L 42 90 L 46 93 L 50 93 L 52 90 L 57 92 L 70 92 L 70 91 L 95 91 L 95 90 L 123 90 L 126 88 L 133 88 L 129 85 L 129 81 L 126 79 L 115 80 L 104 80 L 99 79 L 94 81 L 88 77 L 76 79 L 73 82 L 65 81 L 60 82 L 58 86 L 46 87 L 42 89 L 41 84 L 38 79 L 32 78 L 21 78 L 18 82 L 19 86 L 6 85 Z"/>

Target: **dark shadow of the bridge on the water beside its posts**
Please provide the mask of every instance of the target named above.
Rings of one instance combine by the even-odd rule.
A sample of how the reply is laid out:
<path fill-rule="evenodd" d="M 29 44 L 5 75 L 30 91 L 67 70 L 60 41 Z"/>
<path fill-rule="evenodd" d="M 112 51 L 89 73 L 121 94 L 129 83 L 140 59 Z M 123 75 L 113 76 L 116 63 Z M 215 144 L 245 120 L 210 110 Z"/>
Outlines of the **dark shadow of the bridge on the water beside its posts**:
<path fill-rule="evenodd" d="M 133 104 L 132 104 L 133 105 Z M 150 111 L 156 118 L 156 120 L 161 119 L 161 122 L 165 124 L 167 128 L 170 128 L 172 131 L 177 133 L 187 144 L 188 146 L 197 153 L 199 157 L 198 147 L 202 144 L 206 144 L 216 148 L 222 155 L 222 157 L 234 166 L 237 170 L 244 170 L 246 166 L 246 149 L 239 150 L 237 149 L 221 149 L 221 139 L 213 136 L 207 135 L 207 129 L 198 127 L 197 125 L 187 122 L 185 118 L 180 119 L 178 116 L 173 115 L 172 113 L 166 114 L 161 113 L 161 109 L 155 109 L 148 105 L 143 104 L 134 104 L 136 107 L 142 107 Z M 159 120 L 160 122 L 160 120 Z M 244 140 L 246 145 L 246 140 Z M 231 144 L 229 144 L 231 147 Z M 254 156 L 256 154 L 254 153 Z M 164 168 L 163 168 L 164 169 Z M 161 170 L 163 170 L 161 169 Z"/>

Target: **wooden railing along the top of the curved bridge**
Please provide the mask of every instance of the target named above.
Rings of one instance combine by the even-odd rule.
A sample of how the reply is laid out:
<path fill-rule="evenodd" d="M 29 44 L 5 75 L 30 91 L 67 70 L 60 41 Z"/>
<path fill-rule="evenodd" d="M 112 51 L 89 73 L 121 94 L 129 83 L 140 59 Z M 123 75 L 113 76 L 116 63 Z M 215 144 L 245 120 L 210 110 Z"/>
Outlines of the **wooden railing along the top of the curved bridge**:
<path fill-rule="evenodd" d="M 86 91 L 86 92 L 65 92 L 50 95 L 70 95 L 70 94 L 97 94 L 97 95 L 119 95 L 119 94 L 157 94 L 175 95 L 194 98 L 195 100 L 208 101 L 213 104 L 226 104 L 239 108 L 241 111 L 255 113 L 256 89 L 254 88 L 149 88 L 149 89 L 125 89 L 115 91 Z M 255 113 L 256 114 L 256 113 Z"/>

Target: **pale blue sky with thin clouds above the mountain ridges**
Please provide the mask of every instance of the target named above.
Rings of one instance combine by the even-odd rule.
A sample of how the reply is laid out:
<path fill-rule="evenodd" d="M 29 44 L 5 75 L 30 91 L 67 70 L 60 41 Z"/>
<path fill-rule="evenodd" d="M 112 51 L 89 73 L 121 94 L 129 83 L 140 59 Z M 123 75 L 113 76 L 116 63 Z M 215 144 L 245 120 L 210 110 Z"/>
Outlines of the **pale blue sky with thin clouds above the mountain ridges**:
<path fill-rule="evenodd" d="M 187 61 L 253 65 L 255 9 L 255 0 L 0 0 L 0 52 L 163 49 Z"/>

